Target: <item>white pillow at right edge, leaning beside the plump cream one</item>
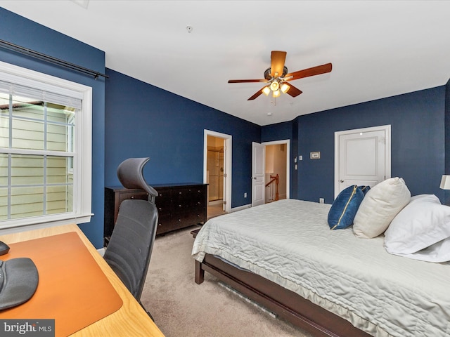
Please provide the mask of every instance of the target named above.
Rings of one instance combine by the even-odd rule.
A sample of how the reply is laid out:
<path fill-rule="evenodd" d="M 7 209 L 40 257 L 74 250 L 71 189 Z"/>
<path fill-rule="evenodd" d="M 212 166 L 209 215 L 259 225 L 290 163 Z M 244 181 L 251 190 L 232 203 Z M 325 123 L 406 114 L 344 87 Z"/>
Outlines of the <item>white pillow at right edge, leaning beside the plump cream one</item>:
<path fill-rule="evenodd" d="M 412 197 L 392 220 L 385 232 L 385 249 L 392 254 L 411 254 L 448 237 L 450 207 L 442 205 L 434 194 L 421 194 Z"/>

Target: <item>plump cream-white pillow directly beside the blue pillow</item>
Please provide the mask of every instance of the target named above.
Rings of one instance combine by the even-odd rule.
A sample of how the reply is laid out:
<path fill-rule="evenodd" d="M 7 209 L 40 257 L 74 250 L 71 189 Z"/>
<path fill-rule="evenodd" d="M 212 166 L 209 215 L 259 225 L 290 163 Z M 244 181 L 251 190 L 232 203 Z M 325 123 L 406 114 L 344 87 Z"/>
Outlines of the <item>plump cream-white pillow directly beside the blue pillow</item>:
<path fill-rule="evenodd" d="M 410 199 L 411 192 L 403 178 L 389 178 L 373 186 L 354 217 L 354 234 L 369 239 L 378 237 Z"/>

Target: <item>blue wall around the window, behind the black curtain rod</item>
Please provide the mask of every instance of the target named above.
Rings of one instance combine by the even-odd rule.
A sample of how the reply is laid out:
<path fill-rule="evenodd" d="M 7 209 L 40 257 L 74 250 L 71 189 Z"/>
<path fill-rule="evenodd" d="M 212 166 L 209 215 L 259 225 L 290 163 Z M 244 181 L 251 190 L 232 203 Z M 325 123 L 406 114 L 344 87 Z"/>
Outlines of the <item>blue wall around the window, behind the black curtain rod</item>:
<path fill-rule="evenodd" d="M 0 8 L 0 39 L 51 55 L 98 72 L 105 72 L 105 53 L 66 35 L 27 20 Z M 68 79 L 93 88 L 92 124 L 92 211 L 91 223 L 80 227 L 96 247 L 103 245 L 104 210 L 104 144 L 105 144 L 105 81 L 36 60 L 26 55 L 0 48 L 0 61 Z"/>

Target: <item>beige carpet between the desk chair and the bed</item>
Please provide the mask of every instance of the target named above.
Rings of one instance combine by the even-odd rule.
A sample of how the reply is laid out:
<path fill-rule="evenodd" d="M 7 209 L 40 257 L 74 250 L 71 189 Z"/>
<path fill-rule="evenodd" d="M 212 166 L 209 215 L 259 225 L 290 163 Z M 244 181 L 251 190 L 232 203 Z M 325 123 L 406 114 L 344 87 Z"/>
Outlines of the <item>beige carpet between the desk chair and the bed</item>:
<path fill-rule="evenodd" d="M 205 272 L 194 282 L 189 227 L 155 239 L 141 301 L 167 337 L 309 337 L 240 298 Z"/>

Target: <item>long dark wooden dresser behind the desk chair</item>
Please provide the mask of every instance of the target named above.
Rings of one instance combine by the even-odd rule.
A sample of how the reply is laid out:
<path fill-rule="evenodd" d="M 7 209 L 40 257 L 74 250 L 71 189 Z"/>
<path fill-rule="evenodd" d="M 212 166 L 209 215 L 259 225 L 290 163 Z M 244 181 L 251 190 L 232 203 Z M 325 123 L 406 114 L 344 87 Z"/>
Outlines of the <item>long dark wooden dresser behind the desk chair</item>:
<path fill-rule="evenodd" d="M 151 185 L 157 192 L 158 230 L 162 234 L 171 230 L 205 223 L 207 185 L 198 183 Z M 125 199 L 148 199 L 143 190 L 128 190 L 122 186 L 105 187 L 105 245 L 113 233 L 119 206 Z"/>

